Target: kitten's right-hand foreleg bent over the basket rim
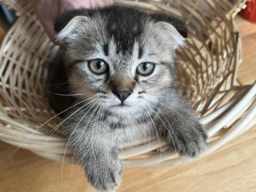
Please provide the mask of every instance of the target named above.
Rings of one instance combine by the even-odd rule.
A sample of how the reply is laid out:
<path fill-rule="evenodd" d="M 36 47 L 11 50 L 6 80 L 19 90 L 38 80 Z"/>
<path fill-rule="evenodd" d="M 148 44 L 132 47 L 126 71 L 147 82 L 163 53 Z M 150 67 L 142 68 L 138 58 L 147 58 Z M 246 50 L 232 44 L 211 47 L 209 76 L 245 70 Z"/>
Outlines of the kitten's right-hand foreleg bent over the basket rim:
<path fill-rule="evenodd" d="M 170 147 L 180 155 L 195 157 L 203 152 L 207 140 L 205 127 L 195 111 L 181 97 L 159 102 L 160 131 L 164 132 Z"/>

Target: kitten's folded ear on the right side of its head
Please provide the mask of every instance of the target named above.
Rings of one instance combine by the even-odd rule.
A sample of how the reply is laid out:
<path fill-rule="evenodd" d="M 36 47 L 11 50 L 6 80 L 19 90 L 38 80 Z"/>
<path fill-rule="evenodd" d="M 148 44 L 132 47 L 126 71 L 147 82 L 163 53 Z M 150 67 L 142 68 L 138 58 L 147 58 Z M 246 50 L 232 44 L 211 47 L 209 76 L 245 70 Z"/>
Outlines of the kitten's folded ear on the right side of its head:
<path fill-rule="evenodd" d="M 169 40 L 175 49 L 184 44 L 188 37 L 188 31 L 182 20 L 163 14 L 152 14 L 151 17 L 156 22 L 154 24 L 155 29 L 159 33 L 163 33 L 164 38 Z"/>

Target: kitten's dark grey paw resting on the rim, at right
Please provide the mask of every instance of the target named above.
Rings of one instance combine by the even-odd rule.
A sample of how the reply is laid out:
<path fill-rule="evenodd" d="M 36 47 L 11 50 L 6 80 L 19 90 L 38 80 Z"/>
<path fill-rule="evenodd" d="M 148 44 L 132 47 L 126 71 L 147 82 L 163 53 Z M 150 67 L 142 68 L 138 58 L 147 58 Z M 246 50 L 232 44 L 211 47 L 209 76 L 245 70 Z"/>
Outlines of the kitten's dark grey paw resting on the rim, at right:
<path fill-rule="evenodd" d="M 168 134 L 167 140 L 180 155 L 196 157 L 204 151 L 207 132 L 198 120 L 183 122 L 173 132 L 174 134 Z"/>

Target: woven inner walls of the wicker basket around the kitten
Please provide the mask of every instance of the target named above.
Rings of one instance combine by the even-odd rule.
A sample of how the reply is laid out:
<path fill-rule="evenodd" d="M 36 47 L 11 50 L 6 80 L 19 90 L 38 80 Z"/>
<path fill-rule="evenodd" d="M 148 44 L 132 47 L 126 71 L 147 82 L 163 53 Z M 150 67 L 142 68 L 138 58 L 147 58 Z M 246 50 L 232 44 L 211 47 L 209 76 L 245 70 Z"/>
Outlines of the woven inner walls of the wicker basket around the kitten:
<path fill-rule="evenodd" d="M 232 23 L 232 15 L 236 11 L 232 10 L 230 1 L 116 3 L 177 17 L 182 15 L 189 26 L 189 38 L 186 45 L 177 51 L 179 72 L 175 86 L 191 100 L 200 115 L 218 108 L 225 91 L 235 83 L 240 56 L 239 36 Z M 45 35 L 29 5 L 19 10 L 19 15 L 0 50 L 1 119 L 4 118 L 5 122 L 15 120 L 33 129 L 40 127 L 40 131 L 52 134 L 60 120 L 52 118 L 54 111 L 44 97 L 44 84 L 48 63 L 58 51 L 58 46 Z"/>

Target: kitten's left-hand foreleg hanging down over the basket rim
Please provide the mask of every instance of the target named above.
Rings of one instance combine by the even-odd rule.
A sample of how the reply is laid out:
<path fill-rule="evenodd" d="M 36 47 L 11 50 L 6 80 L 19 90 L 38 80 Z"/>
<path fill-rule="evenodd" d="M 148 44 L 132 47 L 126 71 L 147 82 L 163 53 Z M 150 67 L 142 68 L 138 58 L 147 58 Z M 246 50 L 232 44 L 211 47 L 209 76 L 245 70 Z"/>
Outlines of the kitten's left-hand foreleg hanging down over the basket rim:
<path fill-rule="evenodd" d="M 101 126 L 98 129 L 96 126 L 93 129 L 94 131 L 89 129 L 81 137 L 83 140 L 77 144 L 75 157 L 93 187 L 100 191 L 114 191 L 120 185 L 122 177 L 118 149 L 111 134 L 105 132 L 108 127 Z"/>

